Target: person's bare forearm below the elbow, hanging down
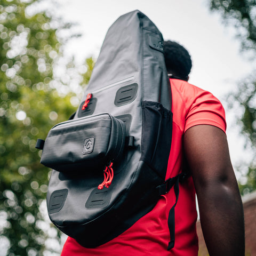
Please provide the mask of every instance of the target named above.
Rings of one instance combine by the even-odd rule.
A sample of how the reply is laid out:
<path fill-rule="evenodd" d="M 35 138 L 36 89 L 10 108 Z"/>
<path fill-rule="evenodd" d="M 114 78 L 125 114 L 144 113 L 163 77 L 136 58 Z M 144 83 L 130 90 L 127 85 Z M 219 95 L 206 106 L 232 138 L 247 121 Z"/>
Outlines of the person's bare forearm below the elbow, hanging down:
<path fill-rule="evenodd" d="M 234 185 L 219 181 L 198 193 L 201 226 L 210 256 L 244 255 L 243 205 L 235 190 Z"/>

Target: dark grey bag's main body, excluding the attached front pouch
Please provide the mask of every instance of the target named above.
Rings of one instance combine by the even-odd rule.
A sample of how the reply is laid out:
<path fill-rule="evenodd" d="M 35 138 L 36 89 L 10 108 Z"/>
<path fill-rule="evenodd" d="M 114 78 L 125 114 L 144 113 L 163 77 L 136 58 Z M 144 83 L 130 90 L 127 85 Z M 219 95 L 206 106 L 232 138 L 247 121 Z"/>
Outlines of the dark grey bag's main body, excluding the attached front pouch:
<path fill-rule="evenodd" d="M 170 81 L 162 42 L 160 31 L 140 11 L 119 17 L 107 32 L 74 116 L 75 120 L 88 115 L 80 108 L 91 93 L 90 115 L 109 113 L 129 122 L 125 124 L 129 128 L 126 136 L 134 137 L 133 147 L 125 148 L 121 161 L 113 162 L 114 178 L 104 191 L 107 194 L 102 192 L 103 203 L 99 200 L 98 207 L 93 202 L 93 207 L 86 208 L 92 205 L 90 198 L 100 197 L 95 188 L 103 180 L 103 169 L 92 164 L 85 172 L 52 171 L 48 209 L 53 193 L 65 194 L 63 202 L 59 200 L 60 209 L 54 208 L 49 217 L 63 233 L 85 247 L 99 246 L 122 234 L 159 199 L 157 187 L 165 181 L 172 133 Z M 126 100 L 123 95 L 130 98 Z"/>

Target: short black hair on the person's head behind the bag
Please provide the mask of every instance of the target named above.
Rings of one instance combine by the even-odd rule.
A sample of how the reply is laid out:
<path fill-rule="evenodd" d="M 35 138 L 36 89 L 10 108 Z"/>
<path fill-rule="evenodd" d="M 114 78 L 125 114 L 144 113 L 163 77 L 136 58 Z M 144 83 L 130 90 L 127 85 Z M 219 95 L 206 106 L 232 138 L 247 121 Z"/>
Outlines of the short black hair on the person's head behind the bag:
<path fill-rule="evenodd" d="M 189 52 L 177 42 L 164 41 L 164 59 L 167 72 L 175 73 L 175 76 L 186 80 L 192 67 Z"/>

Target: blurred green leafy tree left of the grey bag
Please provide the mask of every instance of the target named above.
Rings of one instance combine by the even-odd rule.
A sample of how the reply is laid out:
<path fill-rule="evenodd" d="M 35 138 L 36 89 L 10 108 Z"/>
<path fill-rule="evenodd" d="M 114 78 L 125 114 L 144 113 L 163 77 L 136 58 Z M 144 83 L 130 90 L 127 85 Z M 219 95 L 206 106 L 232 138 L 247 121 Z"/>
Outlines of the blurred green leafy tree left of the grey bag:
<path fill-rule="evenodd" d="M 58 31 L 70 24 L 47 11 L 33 13 L 38 3 L 0 1 L 0 244 L 12 256 L 58 252 L 60 235 L 39 210 L 50 170 L 39 163 L 35 143 L 68 119 L 79 102 L 69 78 L 65 82 L 53 71 L 62 58 Z M 86 65 L 88 80 L 93 60 Z M 62 68 L 75 66 L 70 60 Z"/>

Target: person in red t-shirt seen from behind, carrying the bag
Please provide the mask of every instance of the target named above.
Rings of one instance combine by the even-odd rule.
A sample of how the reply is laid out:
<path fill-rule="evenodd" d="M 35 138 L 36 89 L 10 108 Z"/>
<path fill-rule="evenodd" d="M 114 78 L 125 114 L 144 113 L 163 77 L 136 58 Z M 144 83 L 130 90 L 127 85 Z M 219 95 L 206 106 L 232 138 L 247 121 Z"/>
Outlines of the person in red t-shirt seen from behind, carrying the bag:
<path fill-rule="evenodd" d="M 181 172 L 183 163 L 191 175 L 179 185 L 175 206 L 175 244 L 167 250 L 168 214 L 175 203 L 173 189 L 154 209 L 123 234 L 94 249 L 68 237 L 61 256 L 161 255 L 196 256 L 196 199 L 210 256 L 244 255 L 243 206 L 230 162 L 225 111 L 210 92 L 188 83 L 191 58 L 180 44 L 164 41 L 164 55 L 172 90 L 173 133 L 166 179 Z"/>

